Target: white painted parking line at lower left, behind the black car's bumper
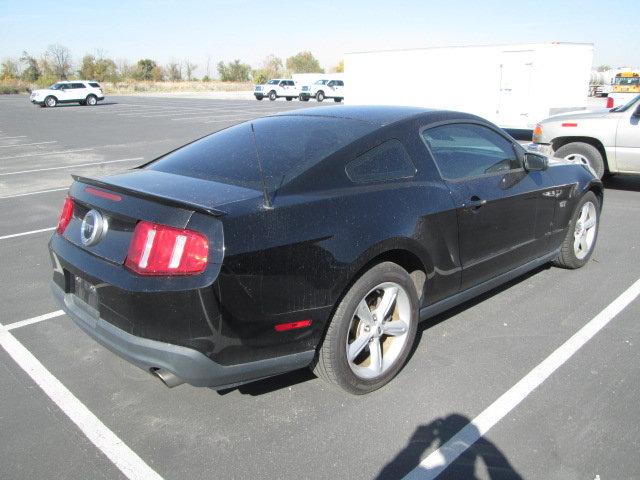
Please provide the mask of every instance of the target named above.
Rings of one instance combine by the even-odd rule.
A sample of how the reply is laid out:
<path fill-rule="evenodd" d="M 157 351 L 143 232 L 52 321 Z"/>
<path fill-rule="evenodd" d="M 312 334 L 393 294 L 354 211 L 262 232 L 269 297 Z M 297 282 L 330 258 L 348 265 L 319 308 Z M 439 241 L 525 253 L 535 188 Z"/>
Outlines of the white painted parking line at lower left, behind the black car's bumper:
<path fill-rule="evenodd" d="M 155 470 L 102 423 L 2 324 L 0 324 L 0 346 L 127 478 L 162 480 Z"/>

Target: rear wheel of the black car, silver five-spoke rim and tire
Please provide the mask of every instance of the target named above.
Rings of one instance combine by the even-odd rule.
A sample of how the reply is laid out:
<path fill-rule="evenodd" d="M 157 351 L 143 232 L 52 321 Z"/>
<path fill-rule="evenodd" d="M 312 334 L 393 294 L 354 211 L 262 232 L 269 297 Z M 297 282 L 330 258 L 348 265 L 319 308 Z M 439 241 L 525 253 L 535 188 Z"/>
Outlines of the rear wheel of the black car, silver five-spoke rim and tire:
<path fill-rule="evenodd" d="M 417 326 L 418 296 L 410 275 L 395 263 L 380 263 L 338 305 L 314 373 L 349 393 L 372 392 L 402 369 Z"/>

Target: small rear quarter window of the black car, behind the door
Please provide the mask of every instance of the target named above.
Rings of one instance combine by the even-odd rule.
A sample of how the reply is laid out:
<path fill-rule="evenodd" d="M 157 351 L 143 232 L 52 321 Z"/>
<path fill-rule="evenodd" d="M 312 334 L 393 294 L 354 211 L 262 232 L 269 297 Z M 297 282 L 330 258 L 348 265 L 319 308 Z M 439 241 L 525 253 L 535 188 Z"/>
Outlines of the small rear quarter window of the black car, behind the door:
<path fill-rule="evenodd" d="M 349 162 L 345 172 L 354 183 L 385 182 L 411 178 L 416 167 L 402 143 L 387 140 Z"/>

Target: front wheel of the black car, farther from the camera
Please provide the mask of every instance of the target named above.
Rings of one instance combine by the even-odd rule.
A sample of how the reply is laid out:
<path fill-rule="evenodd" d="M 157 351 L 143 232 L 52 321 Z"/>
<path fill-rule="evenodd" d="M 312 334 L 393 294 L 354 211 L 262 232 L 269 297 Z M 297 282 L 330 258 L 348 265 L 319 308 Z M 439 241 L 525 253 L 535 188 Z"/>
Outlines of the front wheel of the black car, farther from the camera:
<path fill-rule="evenodd" d="M 573 213 L 562 242 L 558 258 L 553 262 L 562 268 L 575 269 L 584 266 L 598 239 L 600 202 L 593 192 L 585 193 Z"/>

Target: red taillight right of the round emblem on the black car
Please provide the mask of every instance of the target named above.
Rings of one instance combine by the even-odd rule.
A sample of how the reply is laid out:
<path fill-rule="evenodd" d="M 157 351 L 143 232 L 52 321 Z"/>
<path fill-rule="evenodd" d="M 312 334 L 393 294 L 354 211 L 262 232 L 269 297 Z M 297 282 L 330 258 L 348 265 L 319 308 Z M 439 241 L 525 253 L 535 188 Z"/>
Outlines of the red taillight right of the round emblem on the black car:
<path fill-rule="evenodd" d="M 209 241 L 192 230 L 138 222 L 125 265 L 140 275 L 193 275 L 202 272 Z"/>

